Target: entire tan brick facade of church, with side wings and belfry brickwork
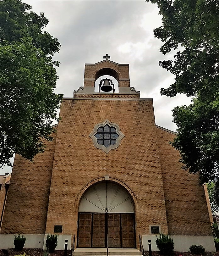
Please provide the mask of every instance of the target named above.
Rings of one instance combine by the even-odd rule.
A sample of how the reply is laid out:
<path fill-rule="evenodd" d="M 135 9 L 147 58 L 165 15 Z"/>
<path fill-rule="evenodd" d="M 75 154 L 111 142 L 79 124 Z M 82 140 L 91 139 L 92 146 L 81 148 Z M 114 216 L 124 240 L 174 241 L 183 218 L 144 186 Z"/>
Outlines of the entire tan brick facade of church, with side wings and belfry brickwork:
<path fill-rule="evenodd" d="M 94 86 L 102 68 L 116 70 L 120 86 L 129 86 L 129 66 L 108 61 L 85 64 L 84 85 Z M 33 163 L 15 157 L 1 232 L 53 233 L 54 225 L 63 225 L 62 234 L 77 234 L 83 192 L 109 175 L 133 198 L 136 238 L 149 235 L 149 225 L 170 235 L 210 235 L 204 189 L 197 176 L 181 169 L 178 152 L 168 143 L 175 135 L 156 127 L 152 100 L 85 96 L 63 99 L 57 133 L 45 153 Z M 89 137 L 106 119 L 124 134 L 107 154 Z"/>

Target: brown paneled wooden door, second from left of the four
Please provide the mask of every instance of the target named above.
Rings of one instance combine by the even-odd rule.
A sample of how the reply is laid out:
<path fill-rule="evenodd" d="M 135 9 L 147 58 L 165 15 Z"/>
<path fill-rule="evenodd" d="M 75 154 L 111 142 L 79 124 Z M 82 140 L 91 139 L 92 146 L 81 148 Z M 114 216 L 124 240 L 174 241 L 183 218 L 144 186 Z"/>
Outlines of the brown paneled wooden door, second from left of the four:
<path fill-rule="evenodd" d="M 92 247 L 105 248 L 105 213 L 93 214 Z"/>

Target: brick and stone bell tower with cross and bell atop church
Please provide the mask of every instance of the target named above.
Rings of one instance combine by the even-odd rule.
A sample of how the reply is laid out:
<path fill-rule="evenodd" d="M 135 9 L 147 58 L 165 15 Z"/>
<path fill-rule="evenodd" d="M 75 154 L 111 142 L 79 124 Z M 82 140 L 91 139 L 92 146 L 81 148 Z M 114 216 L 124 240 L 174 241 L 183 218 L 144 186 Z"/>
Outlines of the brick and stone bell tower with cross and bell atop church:
<path fill-rule="evenodd" d="M 131 97 L 140 98 L 140 92 L 136 91 L 134 87 L 130 87 L 129 81 L 129 64 L 118 64 L 109 60 L 110 56 L 106 54 L 104 60 L 95 64 L 85 64 L 84 86 L 79 87 L 74 91 L 75 97 Z M 114 84 L 111 79 L 101 79 L 103 75 L 114 77 L 118 81 L 119 92 L 115 92 Z M 99 81 L 99 92 L 94 92 L 96 80 Z M 122 96 L 123 95 L 123 96 Z"/>

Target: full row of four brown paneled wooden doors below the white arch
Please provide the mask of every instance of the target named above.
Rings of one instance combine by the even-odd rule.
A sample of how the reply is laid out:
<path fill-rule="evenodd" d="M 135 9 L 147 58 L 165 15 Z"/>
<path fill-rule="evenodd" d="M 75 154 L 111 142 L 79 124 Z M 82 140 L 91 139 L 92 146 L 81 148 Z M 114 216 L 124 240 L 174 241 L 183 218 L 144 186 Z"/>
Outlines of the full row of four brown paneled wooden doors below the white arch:
<path fill-rule="evenodd" d="M 81 248 L 135 248 L 134 213 L 79 213 Z"/>

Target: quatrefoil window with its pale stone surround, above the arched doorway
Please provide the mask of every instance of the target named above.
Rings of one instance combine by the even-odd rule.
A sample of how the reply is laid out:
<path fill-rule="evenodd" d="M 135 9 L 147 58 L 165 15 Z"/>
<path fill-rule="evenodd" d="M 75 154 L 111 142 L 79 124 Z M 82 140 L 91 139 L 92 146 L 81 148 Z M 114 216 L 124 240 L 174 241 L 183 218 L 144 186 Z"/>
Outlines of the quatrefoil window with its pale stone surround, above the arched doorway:
<path fill-rule="evenodd" d="M 89 136 L 93 140 L 94 146 L 106 153 L 111 149 L 117 148 L 124 137 L 119 126 L 109 120 L 95 125 L 93 132 Z"/>

